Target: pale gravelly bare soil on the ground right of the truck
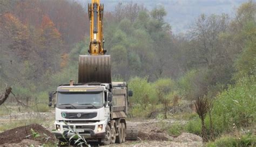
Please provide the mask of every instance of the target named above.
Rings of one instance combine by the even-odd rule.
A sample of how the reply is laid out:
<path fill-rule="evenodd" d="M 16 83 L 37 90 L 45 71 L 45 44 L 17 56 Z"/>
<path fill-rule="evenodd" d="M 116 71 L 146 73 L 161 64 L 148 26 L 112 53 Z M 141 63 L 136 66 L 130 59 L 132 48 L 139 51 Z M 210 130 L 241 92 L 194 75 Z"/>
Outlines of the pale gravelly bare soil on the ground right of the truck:
<path fill-rule="evenodd" d="M 176 120 L 165 120 L 166 123 L 174 123 Z M 133 121 L 138 125 L 139 135 L 138 141 L 127 141 L 124 144 L 113 144 L 111 146 L 203 146 L 203 139 L 200 136 L 184 133 L 180 136 L 169 135 L 167 131 L 161 127 L 158 120 Z M 185 123 L 180 121 L 179 123 Z"/>

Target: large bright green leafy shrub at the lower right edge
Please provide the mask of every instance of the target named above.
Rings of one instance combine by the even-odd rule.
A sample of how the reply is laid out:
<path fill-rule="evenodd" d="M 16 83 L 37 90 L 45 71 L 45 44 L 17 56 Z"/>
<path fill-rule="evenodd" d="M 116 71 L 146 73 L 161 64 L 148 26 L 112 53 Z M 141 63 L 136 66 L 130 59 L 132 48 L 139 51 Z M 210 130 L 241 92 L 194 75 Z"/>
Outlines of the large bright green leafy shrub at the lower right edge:
<path fill-rule="evenodd" d="M 223 128 L 248 127 L 255 121 L 256 76 L 240 79 L 214 102 L 213 114 L 221 117 Z"/>

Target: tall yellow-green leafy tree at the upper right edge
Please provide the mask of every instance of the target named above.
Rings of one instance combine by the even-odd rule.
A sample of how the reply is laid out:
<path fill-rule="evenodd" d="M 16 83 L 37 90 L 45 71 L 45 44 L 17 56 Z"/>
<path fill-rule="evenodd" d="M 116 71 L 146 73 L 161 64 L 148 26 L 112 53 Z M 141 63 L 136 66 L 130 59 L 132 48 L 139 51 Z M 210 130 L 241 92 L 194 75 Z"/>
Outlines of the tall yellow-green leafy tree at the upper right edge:
<path fill-rule="evenodd" d="M 242 51 L 235 60 L 234 66 L 237 73 L 234 79 L 247 75 L 255 75 L 256 71 L 256 3 L 247 2 L 242 4 L 237 10 L 237 19 L 233 22 L 233 27 L 239 28 L 236 35 L 242 40 Z"/>

